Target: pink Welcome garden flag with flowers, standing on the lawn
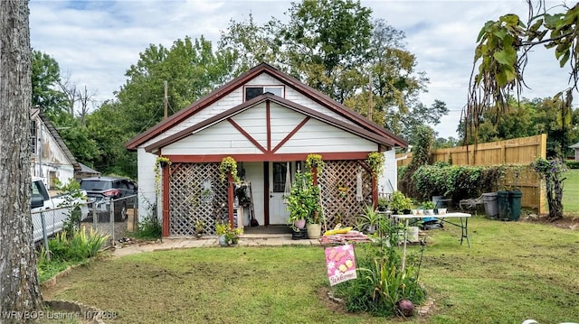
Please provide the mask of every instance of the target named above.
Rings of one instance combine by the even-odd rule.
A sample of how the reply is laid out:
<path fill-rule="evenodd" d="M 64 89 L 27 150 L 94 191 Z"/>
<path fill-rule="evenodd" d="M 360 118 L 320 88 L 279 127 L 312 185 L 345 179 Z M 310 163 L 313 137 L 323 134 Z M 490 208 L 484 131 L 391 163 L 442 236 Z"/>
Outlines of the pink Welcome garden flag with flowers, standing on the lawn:
<path fill-rule="evenodd" d="M 356 279 L 354 245 L 326 247 L 326 266 L 330 286 Z"/>

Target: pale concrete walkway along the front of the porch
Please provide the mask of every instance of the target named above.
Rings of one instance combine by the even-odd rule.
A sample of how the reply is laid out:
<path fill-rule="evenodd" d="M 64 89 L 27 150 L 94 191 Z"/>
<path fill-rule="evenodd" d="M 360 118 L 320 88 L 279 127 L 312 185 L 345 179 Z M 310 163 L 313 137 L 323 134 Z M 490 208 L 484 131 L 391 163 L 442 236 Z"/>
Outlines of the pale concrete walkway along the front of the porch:
<path fill-rule="evenodd" d="M 288 234 L 244 234 L 240 236 L 239 246 L 280 246 L 280 245 L 320 245 L 318 239 L 293 240 Z M 138 244 L 120 244 L 110 248 L 113 256 L 134 255 L 144 252 L 168 251 L 192 247 L 218 247 L 217 236 L 195 237 L 165 237 L 156 242 Z"/>

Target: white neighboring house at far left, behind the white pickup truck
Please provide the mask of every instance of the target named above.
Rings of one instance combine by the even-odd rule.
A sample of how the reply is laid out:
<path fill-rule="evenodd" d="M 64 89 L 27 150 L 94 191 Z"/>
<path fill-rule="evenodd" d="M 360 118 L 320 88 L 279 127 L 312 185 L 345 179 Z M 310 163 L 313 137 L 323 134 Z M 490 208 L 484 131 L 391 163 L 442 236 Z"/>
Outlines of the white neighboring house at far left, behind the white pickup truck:
<path fill-rule="evenodd" d="M 81 171 L 81 164 L 62 141 L 61 135 L 40 108 L 30 112 L 31 173 L 42 178 L 49 190 L 55 189 L 56 180 L 68 183 Z"/>

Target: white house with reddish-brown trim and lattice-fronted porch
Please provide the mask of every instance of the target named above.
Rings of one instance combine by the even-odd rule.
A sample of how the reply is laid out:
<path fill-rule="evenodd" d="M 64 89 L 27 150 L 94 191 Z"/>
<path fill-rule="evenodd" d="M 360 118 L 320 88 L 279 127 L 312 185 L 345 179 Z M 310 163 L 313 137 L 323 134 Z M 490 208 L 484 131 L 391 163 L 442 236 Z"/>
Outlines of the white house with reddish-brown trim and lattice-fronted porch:
<path fill-rule="evenodd" d="M 377 202 L 380 189 L 365 164 L 368 154 L 385 153 L 389 179 L 382 183 L 389 190 L 396 188 L 394 149 L 408 143 L 262 63 L 126 146 L 138 152 L 139 206 L 157 201 L 163 235 L 189 236 L 196 220 L 204 221 L 205 233 L 211 234 L 223 213 L 232 213 L 230 189 L 219 174 L 224 157 L 238 162 L 244 183 L 251 183 L 254 217 L 269 226 L 287 224 L 287 181 L 303 169 L 308 154 L 321 154 L 326 166 L 318 180 L 327 225 L 347 226 L 365 204 Z M 171 161 L 160 182 L 154 171 L 157 156 Z"/>

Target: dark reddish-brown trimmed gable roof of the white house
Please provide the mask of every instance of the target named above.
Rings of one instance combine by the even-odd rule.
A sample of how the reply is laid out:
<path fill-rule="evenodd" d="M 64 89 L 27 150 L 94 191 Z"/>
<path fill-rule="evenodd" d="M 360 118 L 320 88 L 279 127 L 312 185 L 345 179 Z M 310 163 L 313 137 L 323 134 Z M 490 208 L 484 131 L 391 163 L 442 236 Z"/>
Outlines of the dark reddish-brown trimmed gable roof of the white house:
<path fill-rule="evenodd" d="M 157 125 L 147 129 L 147 131 L 133 137 L 131 140 L 128 141 L 128 143 L 125 144 L 125 147 L 127 147 L 128 150 L 136 150 L 139 145 L 146 143 L 148 140 L 150 140 L 152 138 L 155 138 L 158 134 L 162 134 L 166 130 L 172 128 L 174 125 L 178 125 L 179 123 L 185 121 L 186 118 L 195 115 L 197 112 L 203 110 L 206 106 L 210 106 L 214 102 L 218 101 L 220 98 L 231 93 L 234 89 L 242 87 L 243 84 L 245 84 L 249 80 L 257 77 L 261 73 L 267 73 L 275 79 L 280 79 L 280 81 L 285 83 L 286 86 L 288 86 L 290 88 L 294 88 L 302 95 L 314 100 L 315 102 L 317 102 L 318 104 L 320 104 L 322 106 L 326 106 L 328 109 L 331 109 L 332 111 L 337 113 L 337 115 L 346 117 L 348 120 L 352 121 L 355 125 L 364 129 L 366 132 L 377 134 L 378 136 L 382 137 L 383 140 L 385 138 L 389 139 L 388 141 L 384 142 L 384 143 L 388 143 L 388 146 L 401 146 L 401 147 L 407 147 L 408 146 L 408 142 L 406 140 L 404 140 L 401 136 L 398 136 L 398 135 L 392 133 L 391 131 L 385 129 L 384 127 L 375 124 L 374 122 L 366 119 L 364 116 L 362 116 L 362 115 L 356 113 L 355 111 L 347 108 L 346 106 L 338 103 L 337 101 L 333 100 L 332 98 L 327 97 L 326 95 L 322 94 L 321 92 L 319 92 L 315 88 L 311 88 L 308 85 L 300 82 L 298 79 L 295 79 L 295 78 L 289 76 L 288 74 L 281 72 L 279 69 L 275 69 L 267 63 L 261 63 L 261 64 L 255 66 L 254 68 L 248 70 L 247 72 L 242 73 L 239 77 L 224 84 L 222 87 L 214 89 L 214 91 L 209 93 L 207 96 L 200 98 L 199 100 L 195 101 L 193 104 L 191 104 L 189 106 L 186 106 L 185 108 L 178 111 L 176 114 L 174 114 L 174 115 L 168 117 L 167 119 L 159 122 Z M 271 97 L 269 97 L 269 98 L 271 99 Z M 261 99 L 263 99 L 263 97 L 261 97 Z M 261 99 L 259 99 L 259 100 L 261 100 Z M 278 97 L 275 99 L 280 99 L 280 98 Z M 318 112 L 314 112 L 312 109 L 309 109 L 305 106 L 295 105 L 286 99 L 283 99 L 283 100 L 284 101 L 281 102 L 283 106 L 289 106 L 290 108 L 294 108 L 296 110 L 299 110 L 300 112 L 306 113 L 307 115 L 312 114 L 312 113 L 315 113 L 315 114 L 312 114 L 312 116 L 321 115 Z M 255 102 L 252 100 L 249 100 L 248 102 L 255 104 Z M 244 104 L 247 104 L 248 102 L 246 102 Z M 247 107 L 248 106 L 240 105 L 240 106 L 237 106 L 236 108 L 244 110 L 244 108 L 247 108 Z M 226 115 L 225 113 L 229 113 L 229 114 L 234 115 L 235 113 L 237 113 L 237 111 L 235 110 L 236 108 L 230 109 L 227 112 L 219 114 L 218 116 L 221 116 L 221 118 L 223 118 Z M 214 118 L 215 117 L 216 116 L 214 116 Z M 318 116 L 318 117 L 326 122 L 331 121 L 331 123 L 334 123 L 337 121 L 335 118 L 330 118 L 328 116 L 326 116 L 325 118 L 323 118 L 322 116 Z M 210 119 L 212 119 L 212 118 L 210 118 Z M 340 123 L 346 124 L 343 122 L 340 122 Z M 179 132 L 177 134 L 183 134 L 183 133 Z M 190 134 L 190 132 L 189 132 L 189 134 Z M 173 136 L 170 136 L 170 137 L 173 137 Z M 161 141 L 161 142 L 165 143 L 165 141 Z M 157 145 L 153 145 L 153 146 L 157 146 Z"/>

